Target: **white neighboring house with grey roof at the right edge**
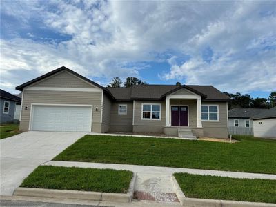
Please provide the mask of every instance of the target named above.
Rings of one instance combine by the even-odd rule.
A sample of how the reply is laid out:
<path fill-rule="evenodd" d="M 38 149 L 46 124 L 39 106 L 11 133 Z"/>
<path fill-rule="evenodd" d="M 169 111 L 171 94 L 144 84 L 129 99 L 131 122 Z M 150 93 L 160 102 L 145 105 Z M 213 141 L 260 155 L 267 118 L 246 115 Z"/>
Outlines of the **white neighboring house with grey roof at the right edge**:
<path fill-rule="evenodd" d="M 254 137 L 276 138 L 276 106 L 252 119 Z"/>

